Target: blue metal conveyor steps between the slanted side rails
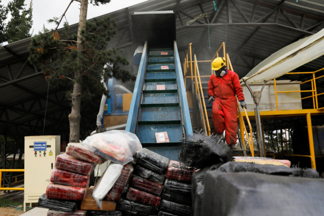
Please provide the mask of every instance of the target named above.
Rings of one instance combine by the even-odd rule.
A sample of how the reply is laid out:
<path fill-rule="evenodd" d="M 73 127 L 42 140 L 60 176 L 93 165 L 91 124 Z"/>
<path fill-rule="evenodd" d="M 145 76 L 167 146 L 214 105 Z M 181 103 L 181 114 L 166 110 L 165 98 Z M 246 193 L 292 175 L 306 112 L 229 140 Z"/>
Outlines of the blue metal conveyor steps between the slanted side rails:
<path fill-rule="evenodd" d="M 174 146 L 183 136 L 173 49 L 150 49 L 148 54 L 136 135 L 144 146 Z M 158 132 L 167 132 L 170 143 L 156 144 Z"/>

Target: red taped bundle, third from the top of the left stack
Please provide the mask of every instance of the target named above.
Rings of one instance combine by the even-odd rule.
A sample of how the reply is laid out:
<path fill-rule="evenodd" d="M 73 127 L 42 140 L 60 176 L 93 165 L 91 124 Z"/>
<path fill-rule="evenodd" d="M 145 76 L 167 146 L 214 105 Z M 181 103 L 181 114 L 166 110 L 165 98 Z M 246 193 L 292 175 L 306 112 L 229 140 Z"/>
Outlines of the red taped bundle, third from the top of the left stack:
<path fill-rule="evenodd" d="M 51 182 L 60 185 L 87 188 L 89 186 L 90 176 L 84 176 L 62 169 L 53 169 Z"/>

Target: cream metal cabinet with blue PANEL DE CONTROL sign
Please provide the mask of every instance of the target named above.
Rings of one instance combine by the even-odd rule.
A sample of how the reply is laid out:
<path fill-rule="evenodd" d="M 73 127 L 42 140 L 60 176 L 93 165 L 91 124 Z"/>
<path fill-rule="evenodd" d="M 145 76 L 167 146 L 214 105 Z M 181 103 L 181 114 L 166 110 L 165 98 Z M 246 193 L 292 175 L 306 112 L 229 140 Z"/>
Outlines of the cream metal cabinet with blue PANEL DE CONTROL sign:
<path fill-rule="evenodd" d="M 60 154 L 60 136 L 25 137 L 25 193 L 26 203 L 38 202 L 46 192 L 55 165 L 56 156 Z"/>

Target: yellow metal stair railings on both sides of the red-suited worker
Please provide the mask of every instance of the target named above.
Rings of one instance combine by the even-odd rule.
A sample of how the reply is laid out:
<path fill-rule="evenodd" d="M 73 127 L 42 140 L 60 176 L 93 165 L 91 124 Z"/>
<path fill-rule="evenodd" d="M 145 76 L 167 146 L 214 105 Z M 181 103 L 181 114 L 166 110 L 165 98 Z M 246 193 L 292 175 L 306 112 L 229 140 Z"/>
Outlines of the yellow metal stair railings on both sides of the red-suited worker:
<path fill-rule="evenodd" d="M 218 50 L 216 51 L 213 58 L 211 60 L 207 60 L 207 61 L 197 61 L 196 55 L 194 55 L 194 61 L 192 61 L 191 45 L 192 44 L 190 43 L 188 46 L 187 52 L 185 54 L 186 58 L 184 59 L 184 63 L 183 63 L 183 77 L 184 77 L 185 88 L 186 88 L 186 78 L 191 78 L 191 81 L 195 82 L 195 95 L 198 98 L 198 108 L 199 108 L 199 112 L 200 112 L 201 121 L 203 121 L 202 122 L 203 128 L 205 130 L 206 135 L 210 135 L 211 129 L 210 129 L 210 124 L 209 124 L 209 120 L 208 120 L 207 108 L 206 108 L 206 104 L 205 104 L 205 97 L 204 97 L 203 87 L 201 86 L 200 77 L 211 77 L 211 75 L 213 75 L 213 69 L 212 69 L 213 60 L 215 59 L 215 57 L 217 57 L 217 58 L 219 57 L 219 53 L 221 52 L 222 49 L 223 49 L 223 55 L 224 55 L 224 58 L 226 61 L 227 68 L 230 67 L 231 70 L 233 70 L 233 67 L 230 62 L 228 54 L 226 54 L 226 52 L 225 52 L 225 42 L 223 42 L 222 45 L 218 48 Z M 190 57 L 190 61 L 188 60 L 188 58 L 189 58 L 188 55 Z M 198 63 L 202 63 L 202 62 L 210 62 L 211 63 L 211 75 L 200 76 Z M 192 73 L 193 72 L 192 71 L 192 63 L 194 63 L 194 75 Z M 189 72 L 189 70 L 190 70 L 191 76 L 187 76 L 187 73 Z M 193 78 L 194 78 L 194 80 L 193 80 Z M 203 101 L 201 101 L 201 99 L 203 99 Z M 240 122 L 239 125 L 240 125 L 240 133 L 241 133 L 241 137 L 242 137 L 243 146 L 246 149 L 245 135 L 244 135 L 244 132 L 245 132 L 252 156 L 254 157 L 252 126 L 250 123 L 249 116 L 247 115 L 247 110 L 245 108 L 243 108 L 246 113 L 246 118 L 247 118 L 249 128 L 250 128 L 250 138 L 249 138 L 249 134 L 248 134 L 246 125 L 244 123 L 244 119 L 243 119 L 238 101 L 237 101 L 237 109 L 238 109 L 238 113 L 239 113 L 239 122 Z"/>

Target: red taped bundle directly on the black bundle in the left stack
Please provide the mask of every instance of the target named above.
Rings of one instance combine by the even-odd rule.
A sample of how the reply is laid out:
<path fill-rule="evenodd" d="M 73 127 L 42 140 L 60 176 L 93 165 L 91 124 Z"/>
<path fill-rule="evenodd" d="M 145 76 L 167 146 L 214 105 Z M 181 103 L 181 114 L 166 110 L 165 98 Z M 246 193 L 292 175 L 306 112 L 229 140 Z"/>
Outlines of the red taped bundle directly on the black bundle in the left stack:
<path fill-rule="evenodd" d="M 86 196 L 85 188 L 57 185 L 50 183 L 46 188 L 46 198 L 78 201 Z"/>

